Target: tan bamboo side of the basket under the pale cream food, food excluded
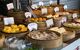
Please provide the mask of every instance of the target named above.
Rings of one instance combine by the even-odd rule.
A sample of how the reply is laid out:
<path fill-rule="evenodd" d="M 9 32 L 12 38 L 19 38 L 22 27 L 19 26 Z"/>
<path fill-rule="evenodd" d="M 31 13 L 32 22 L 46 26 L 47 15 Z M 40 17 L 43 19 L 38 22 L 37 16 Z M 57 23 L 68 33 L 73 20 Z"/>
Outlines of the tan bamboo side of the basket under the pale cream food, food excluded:
<path fill-rule="evenodd" d="M 63 41 L 65 42 L 65 41 L 68 41 L 68 40 L 75 38 L 75 34 L 76 34 L 75 31 L 64 32 L 63 33 Z"/>

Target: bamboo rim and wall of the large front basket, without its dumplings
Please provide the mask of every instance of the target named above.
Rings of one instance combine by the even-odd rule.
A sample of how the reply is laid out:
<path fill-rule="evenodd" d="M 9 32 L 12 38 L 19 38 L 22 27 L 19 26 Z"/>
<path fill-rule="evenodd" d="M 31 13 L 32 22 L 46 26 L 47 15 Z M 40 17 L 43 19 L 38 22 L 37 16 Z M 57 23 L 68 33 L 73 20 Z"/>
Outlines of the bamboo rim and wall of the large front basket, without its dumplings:
<path fill-rule="evenodd" d="M 54 31 L 50 31 L 47 30 L 48 32 L 54 32 Z M 36 47 L 39 48 L 58 48 L 60 46 L 62 46 L 63 42 L 62 42 L 62 35 L 58 32 L 54 32 L 56 33 L 59 37 L 57 39 L 53 39 L 53 40 L 36 40 L 36 39 L 32 39 L 29 36 L 28 40 L 35 45 Z"/>

